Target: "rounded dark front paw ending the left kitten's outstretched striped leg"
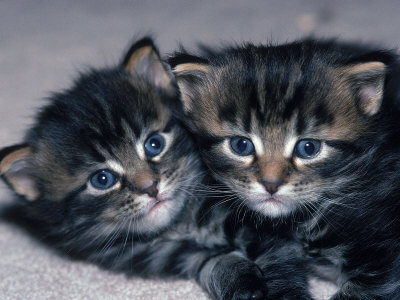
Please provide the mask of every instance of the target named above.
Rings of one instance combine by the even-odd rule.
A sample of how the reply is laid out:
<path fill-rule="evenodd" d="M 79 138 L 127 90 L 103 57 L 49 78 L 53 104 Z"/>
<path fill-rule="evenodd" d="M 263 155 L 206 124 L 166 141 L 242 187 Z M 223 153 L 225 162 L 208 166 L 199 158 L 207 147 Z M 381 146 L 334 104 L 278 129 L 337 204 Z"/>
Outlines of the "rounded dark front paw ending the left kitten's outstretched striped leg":
<path fill-rule="evenodd" d="M 266 281 L 261 270 L 238 251 L 204 262 L 198 281 L 216 299 L 267 299 Z"/>

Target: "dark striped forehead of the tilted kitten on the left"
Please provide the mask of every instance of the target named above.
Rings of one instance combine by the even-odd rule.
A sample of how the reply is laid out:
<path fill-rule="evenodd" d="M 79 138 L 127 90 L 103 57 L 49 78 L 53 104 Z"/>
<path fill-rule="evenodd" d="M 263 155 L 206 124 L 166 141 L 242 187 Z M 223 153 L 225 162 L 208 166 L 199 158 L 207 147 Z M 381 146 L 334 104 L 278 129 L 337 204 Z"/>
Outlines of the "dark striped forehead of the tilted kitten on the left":
<path fill-rule="evenodd" d="M 133 84 L 121 72 L 95 73 L 58 94 L 43 110 L 32 131 L 40 136 L 34 140 L 46 144 L 64 163 L 84 165 L 88 156 L 104 162 L 122 146 L 134 148 L 144 135 L 165 128 L 170 112 L 161 98 L 147 83 Z"/>

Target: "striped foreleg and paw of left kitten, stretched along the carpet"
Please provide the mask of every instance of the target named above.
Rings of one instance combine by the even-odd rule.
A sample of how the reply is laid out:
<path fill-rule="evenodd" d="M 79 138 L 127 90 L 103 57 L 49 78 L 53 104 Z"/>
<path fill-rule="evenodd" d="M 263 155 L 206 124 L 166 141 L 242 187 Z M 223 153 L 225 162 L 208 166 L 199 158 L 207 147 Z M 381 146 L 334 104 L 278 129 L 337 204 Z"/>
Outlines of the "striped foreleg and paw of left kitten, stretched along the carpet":
<path fill-rule="evenodd" d="M 158 240 L 126 251 L 116 269 L 154 277 L 195 279 L 213 299 L 265 300 L 266 281 L 260 268 L 239 251 L 208 248 L 194 240 Z"/>

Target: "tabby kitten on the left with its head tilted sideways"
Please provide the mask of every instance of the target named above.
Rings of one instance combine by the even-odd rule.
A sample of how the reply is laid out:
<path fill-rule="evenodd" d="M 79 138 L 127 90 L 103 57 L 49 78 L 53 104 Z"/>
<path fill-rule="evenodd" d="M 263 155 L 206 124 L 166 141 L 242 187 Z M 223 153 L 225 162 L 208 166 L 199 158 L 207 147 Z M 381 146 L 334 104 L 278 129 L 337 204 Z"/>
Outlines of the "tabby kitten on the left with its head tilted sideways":
<path fill-rule="evenodd" d="M 259 268 L 229 239 L 229 207 L 195 195 L 204 171 L 171 114 L 172 73 L 149 38 L 81 75 L 0 151 L 16 213 L 78 259 L 144 277 L 192 278 L 215 299 L 264 299 Z"/>

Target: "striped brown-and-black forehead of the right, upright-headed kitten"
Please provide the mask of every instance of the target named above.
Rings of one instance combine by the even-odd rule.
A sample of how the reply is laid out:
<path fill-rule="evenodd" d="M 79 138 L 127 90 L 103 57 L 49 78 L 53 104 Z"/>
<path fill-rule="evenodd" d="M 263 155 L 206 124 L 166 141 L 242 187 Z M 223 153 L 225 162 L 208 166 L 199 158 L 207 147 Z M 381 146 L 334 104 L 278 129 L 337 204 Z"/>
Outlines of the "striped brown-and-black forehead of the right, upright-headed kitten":
<path fill-rule="evenodd" d="M 279 49 L 281 50 L 281 49 Z M 208 132 L 216 136 L 260 134 L 284 141 L 295 137 L 348 139 L 360 125 L 350 95 L 335 82 L 335 68 L 278 49 L 246 50 L 212 63 L 198 103 Z M 210 101 L 212 99 L 212 101 Z M 316 136 L 316 133 L 319 136 Z"/>

